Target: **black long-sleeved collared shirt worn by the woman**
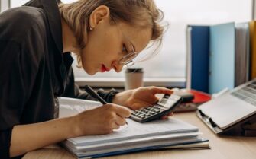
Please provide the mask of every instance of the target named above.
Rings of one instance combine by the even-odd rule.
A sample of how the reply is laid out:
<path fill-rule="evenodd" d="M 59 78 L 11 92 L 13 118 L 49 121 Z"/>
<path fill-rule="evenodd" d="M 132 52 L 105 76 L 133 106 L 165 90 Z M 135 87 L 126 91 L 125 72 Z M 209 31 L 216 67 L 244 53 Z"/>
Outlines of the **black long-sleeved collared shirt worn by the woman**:
<path fill-rule="evenodd" d="M 54 97 L 90 99 L 63 54 L 55 0 L 34 0 L 0 14 L 0 158 L 9 158 L 13 126 L 53 119 Z M 99 94 L 108 102 L 117 91 Z M 39 136 L 40 137 L 40 136 Z"/>

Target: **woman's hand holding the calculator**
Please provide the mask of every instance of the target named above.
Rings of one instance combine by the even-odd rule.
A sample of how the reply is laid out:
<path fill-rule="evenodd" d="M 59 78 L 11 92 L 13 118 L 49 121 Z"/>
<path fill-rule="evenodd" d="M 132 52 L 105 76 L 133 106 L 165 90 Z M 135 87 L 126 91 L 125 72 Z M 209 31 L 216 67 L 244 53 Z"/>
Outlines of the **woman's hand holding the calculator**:
<path fill-rule="evenodd" d="M 157 103 L 159 100 L 156 94 L 172 94 L 173 91 L 165 87 L 139 87 L 134 90 L 124 91 L 116 94 L 113 103 L 123 105 L 131 108 L 131 110 L 138 110 L 141 107 L 146 107 Z M 162 119 L 167 119 L 173 113 L 169 113 L 167 116 L 162 116 Z"/>

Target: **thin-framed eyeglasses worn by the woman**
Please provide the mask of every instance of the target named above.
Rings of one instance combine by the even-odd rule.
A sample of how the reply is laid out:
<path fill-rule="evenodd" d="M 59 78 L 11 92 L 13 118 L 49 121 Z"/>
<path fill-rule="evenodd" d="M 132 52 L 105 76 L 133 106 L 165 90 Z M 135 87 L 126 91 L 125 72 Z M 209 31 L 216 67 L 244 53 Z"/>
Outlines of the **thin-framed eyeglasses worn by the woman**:
<path fill-rule="evenodd" d="M 128 52 L 127 49 L 123 48 L 123 52 L 126 53 L 125 56 L 122 57 L 122 59 L 119 60 L 119 64 L 120 65 L 125 65 L 127 67 L 131 67 L 132 65 L 134 65 L 134 61 L 133 59 L 136 58 L 138 56 L 137 52 L 134 52 L 134 47 L 131 45 L 132 51 Z"/>

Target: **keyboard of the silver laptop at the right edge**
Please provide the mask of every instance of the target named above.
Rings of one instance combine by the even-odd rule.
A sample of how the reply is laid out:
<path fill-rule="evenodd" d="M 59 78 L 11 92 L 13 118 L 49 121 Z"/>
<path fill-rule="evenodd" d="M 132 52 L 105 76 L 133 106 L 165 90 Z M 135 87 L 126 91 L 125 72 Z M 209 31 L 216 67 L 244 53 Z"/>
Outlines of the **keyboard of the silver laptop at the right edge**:
<path fill-rule="evenodd" d="M 232 92 L 232 95 L 256 106 L 256 81 Z"/>

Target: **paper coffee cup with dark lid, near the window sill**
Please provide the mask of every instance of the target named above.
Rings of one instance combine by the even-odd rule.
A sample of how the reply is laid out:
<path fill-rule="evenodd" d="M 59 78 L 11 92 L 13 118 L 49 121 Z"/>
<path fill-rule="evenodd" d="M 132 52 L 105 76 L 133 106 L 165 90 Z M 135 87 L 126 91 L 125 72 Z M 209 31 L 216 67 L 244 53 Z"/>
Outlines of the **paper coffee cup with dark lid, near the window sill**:
<path fill-rule="evenodd" d="M 125 90 L 143 86 L 143 69 L 127 68 L 125 71 Z"/>

